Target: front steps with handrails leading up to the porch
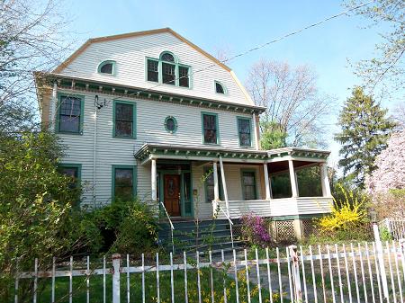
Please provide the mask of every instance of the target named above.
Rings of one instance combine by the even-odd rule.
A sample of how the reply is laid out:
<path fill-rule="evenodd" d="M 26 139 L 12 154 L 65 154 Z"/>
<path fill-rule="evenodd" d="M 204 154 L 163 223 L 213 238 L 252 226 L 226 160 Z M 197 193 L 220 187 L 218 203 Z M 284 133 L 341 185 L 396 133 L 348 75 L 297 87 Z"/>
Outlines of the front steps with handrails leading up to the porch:
<path fill-rule="evenodd" d="M 207 254 L 211 250 L 212 255 L 232 251 L 232 241 L 230 237 L 229 221 L 224 219 L 208 219 L 197 222 L 193 219 L 179 219 L 172 221 L 175 230 L 173 231 L 173 242 L 175 254 L 183 252 L 199 251 Z M 240 241 L 238 230 L 240 223 L 238 220 L 233 221 L 233 248 L 241 249 L 244 243 Z M 168 221 L 161 221 L 158 233 L 160 245 L 163 245 L 167 251 L 172 251 L 171 228 Z"/>

